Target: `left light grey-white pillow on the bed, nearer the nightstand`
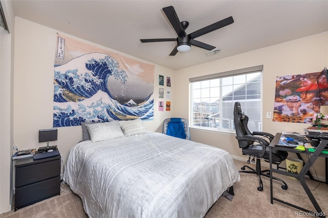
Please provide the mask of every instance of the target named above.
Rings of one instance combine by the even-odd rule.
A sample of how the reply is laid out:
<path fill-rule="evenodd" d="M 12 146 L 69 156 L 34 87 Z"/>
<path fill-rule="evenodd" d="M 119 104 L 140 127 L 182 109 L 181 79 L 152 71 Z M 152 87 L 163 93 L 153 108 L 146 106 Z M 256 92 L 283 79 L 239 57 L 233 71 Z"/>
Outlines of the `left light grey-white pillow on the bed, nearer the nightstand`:
<path fill-rule="evenodd" d="M 118 121 L 86 124 L 92 142 L 124 137 Z"/>

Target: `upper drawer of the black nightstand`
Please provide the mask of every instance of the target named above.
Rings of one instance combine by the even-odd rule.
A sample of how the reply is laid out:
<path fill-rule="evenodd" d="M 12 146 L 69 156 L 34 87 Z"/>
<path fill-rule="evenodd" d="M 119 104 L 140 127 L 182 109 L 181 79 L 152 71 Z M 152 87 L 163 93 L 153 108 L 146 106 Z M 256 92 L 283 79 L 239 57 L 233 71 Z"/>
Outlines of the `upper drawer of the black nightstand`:
<path fill-rule="evenodd" d="M 16 166 L 15 187 L 32 184 L 60 176 L 60 159 L 36 162 L 28 166 Z"/>

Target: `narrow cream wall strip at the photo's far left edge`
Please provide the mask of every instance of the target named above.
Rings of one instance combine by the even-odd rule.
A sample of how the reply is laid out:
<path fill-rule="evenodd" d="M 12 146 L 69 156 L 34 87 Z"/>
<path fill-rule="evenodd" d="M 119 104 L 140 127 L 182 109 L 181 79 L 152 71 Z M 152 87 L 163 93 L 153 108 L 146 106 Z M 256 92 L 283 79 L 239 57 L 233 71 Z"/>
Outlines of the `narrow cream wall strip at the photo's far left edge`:
<path fill-rule="evenodd" d="M 9 1 L 1 1 L 8 31 L 0 29 L 0 214 L 11 209 L 11 156 L 13 138 L 13 40 L 14 13 Z"/>

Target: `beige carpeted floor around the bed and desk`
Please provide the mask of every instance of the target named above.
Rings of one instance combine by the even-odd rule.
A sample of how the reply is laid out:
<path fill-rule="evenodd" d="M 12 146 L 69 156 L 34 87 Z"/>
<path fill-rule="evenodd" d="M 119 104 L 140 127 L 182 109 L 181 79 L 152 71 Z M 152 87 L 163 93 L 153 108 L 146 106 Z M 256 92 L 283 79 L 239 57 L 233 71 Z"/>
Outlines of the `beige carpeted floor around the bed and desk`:
<path fill-rule="evenodd" d="M 234 160 L 238 169 L 245 163 Z M 254 164 L 251 164 L 254 166 Z M 255 167 L 255 166 L 254 166 Z M 315 211 L 311 201 L 297 180 L 290 179 L 282 175 L 274 175 L 283 179 L 289 186 L 288 190 L 282 190 L 281 184 L 274 182 L 274 197 L 286 202 L 296 204 L 300 207 Z M 258 179 L 249 173 L 240 173 L 241 180 L 234 184 L 235 197 L 232 201 L 224 197 L 213 205 L 205 216 L 214 217 L 295 217 L 299 210 L 281 204 L 279 202 L 270 203 L 270 179 L 263 178 L 263 191 L 258 191 Z M 312 180 L 306 180 L 312 190 L 321 209 L 328 215 L 328 185 Z M 319 185 L 319 186 L 318 186 Z M 318 187 L 316 187 L 318 186 Z M 88 217 L 84 212 L 80 198 L 72 193 L 68 187 L 60 195 L 38 202 L 31 206 L 0 214 L 0 218 L 24 217 L 24 218 L 44 218 L 44 217 Z M 313 190 L 315 189 L 315 190 Z"/>

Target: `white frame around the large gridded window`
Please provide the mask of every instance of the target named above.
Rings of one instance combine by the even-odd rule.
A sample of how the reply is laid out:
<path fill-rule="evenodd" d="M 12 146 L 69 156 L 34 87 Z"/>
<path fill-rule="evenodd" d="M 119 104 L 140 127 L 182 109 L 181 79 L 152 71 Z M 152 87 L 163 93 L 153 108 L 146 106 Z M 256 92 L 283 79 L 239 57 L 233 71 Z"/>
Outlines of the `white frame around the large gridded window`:
<path fill-rule="evenodd" d="M 193 105 L 193 93 L 192 93 L 193 90 L 192 90 L 192 85 L 191 84 L 192 84 L 192 82 L 199 82 L 199 81 L 217 79 L 217 78 L 221 79 L 221 78 L 224 78 L 224 77 L 245 75 L 245 74 L 256 73 L 256 72 L 261 73 L 261 79 L 260 79 L 260 119 L 259 119 L 260 121 L 259 121 L 259 126 L 258 126 L 258 130 L 261 130 L 262 129 L 262 123 L 263 123 L 263 120 L 262 120 L 262 114 L 263 114 L 263 112 L 262 112 L 262 104 L 263 104 L 263 89 L 262 89 L 262 86 L 263 86 L 263 65 L 189 78 L 189 119 L 190 119 L 189 127 L 190 128 L 195 128 L 195 129 L 201 129 L 201 130 L 209 130 L 209 131 L 214 131 L 214 132 L 233 133 L 233 134 L 235 134 L 234 129 L 213 128 L 213 127 L 192 125 L 193 124 L 193 116 L 194 116 L 193 115 L 194 114 L 194 112 L 193 112 L 194 105 Z M 220 98 L 222 97 L 221 93 L 222 93 L 222 86 L 220 84 Z M 220 108 L 222 108 L 222 101 L 220 101 Z"/>

